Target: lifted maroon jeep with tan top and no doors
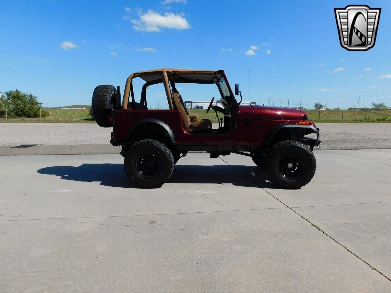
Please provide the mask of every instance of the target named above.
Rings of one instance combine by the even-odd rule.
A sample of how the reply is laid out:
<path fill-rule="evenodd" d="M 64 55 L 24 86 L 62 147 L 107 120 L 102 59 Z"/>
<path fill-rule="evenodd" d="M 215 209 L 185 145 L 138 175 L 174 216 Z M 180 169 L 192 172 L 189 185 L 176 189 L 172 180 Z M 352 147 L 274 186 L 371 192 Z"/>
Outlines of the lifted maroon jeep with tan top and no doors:
<path fill-rule="evenodd" d="M 136 102 L 133 80 L 145 82 Z M 162 84 L 169 110 L 147 107 L 147 88 Z M 206 113 L 222 113 L 221 124 L 213 128 L 209 119 L 189 116 L 178 84 L 215 84 L 219 105 L 210 101 Z M 163 88 L 162 88 L 163 89 Z M 211 158 L 231 153 L 251 156 L 270 182 L 282 188 L 300 188 L 315 174 L 312 150 L 319 147 L 319 128 L 308 121 L 305 111 L 283 107 L 240 105 L 223 70 L 157 69 L 131 74 L 121 102 L 120 88 L 97 86 L 92 96 L 95 120 L 101 127 L 113 127 L 110 143 L 122 146 L 126 175 L 137 186 L 159 188 L 169 180 L 174 164 L 188 151 L 204 151 Z M 218 116 L 217 116 L 218 117 Z M 317 138 L 306 137 L 315 133 Z"/>

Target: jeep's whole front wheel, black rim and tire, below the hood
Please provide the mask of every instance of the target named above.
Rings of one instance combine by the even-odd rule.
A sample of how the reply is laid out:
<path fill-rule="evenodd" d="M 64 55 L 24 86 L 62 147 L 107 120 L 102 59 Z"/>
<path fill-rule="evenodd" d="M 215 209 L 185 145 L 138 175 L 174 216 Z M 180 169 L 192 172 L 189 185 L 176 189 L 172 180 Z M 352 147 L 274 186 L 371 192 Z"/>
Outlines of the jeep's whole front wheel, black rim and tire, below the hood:
<path fill-rule="evenodd" d="M 274 145 L 265 157 L 265 172 L 271 183 L 283 188 L 297 189 L 314 177 L 316 159 L 312 151 L 296 140 Z"/>

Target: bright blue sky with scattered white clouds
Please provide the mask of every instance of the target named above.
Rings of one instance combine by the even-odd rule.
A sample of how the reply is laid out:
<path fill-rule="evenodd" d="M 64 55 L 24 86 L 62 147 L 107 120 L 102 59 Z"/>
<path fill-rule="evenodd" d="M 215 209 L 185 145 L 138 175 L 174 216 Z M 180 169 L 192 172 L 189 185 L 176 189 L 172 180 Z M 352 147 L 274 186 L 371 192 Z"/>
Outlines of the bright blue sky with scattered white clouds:
<path fill-rule="evenodd" d="M 366 52 L 339 45 L 333 9 L 348 4 L 361 3 L 2 0 L 0 91 L 32 93 L 44 106 L 91 104 L 95 86 L 123 89 L 135 71 L 224 69 L 248 100 L 251 69 L 257 104 L 298 105 L 301 95 L 307 105 L 357 107 L 360 97 L 360 106 L 391 106 L 391 2 L 364 3 L 382 8 Z M 214 91 L 181 95 L 210 100 Z M 149 107 L 167 105 L 161 93 L 151 92 Z"/>

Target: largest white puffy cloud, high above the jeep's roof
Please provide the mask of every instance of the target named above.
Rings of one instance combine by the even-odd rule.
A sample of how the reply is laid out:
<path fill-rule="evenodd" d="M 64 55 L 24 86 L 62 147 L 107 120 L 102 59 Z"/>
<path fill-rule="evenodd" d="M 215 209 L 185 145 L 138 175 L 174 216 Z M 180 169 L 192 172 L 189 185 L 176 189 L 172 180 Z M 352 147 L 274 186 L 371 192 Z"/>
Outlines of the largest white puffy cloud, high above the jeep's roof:
<path fill-rule="evenodd" d="M 190 24 L 184 18 L 185 14 L 174 14 L 172 12 L 161 15 L 149 9 L 147 13 L 140 13 L 140 19 L 133 19 L 133 29 L 142 32 L 160 32 L 160 28 L 183 30 L 190 28 Z"/>

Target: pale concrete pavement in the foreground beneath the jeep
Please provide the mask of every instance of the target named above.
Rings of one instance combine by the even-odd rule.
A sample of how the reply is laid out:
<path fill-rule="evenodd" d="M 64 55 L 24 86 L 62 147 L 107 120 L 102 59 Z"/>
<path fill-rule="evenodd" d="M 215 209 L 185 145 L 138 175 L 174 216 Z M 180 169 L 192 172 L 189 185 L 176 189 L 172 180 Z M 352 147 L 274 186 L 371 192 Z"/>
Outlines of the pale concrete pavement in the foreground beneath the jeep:
<path fill-rule="evenodd" d="M 160 189 L 119 155 L 1 156 L 0 292 L 389 293 L 391 150 L 315 155 L 301 190 L 235 154 Z"/>

